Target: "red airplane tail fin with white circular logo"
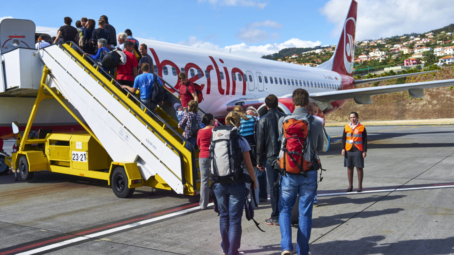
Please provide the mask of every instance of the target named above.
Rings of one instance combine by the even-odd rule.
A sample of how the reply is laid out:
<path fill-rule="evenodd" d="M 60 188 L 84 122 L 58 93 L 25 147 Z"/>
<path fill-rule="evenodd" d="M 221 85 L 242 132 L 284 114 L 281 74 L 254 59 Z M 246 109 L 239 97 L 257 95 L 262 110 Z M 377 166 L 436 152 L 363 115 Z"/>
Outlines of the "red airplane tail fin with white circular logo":
<path fill-rule="evenodd" d="M 344 29 L 342 29 L 341 38 L 336 46 L 336 52 L 333 56 L 332 70 L 349 76 L 353 76 L 353 59 L 355 58 L 355 29 L 356 29 L 356 11 L 358 3 L 351 1 L 347 18 L 345 19 Z"/>

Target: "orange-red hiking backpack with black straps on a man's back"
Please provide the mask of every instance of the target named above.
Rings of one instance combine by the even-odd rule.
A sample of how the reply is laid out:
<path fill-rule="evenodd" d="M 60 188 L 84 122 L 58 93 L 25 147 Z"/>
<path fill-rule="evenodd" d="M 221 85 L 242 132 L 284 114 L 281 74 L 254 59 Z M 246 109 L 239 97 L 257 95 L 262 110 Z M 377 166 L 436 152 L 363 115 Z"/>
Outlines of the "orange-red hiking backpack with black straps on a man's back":
<path fill-rule="evenodd" d="M 282 124 L 282 147 L 277 166 L 282 173 L 306 175 L 311 170 L 311 153 L 308 149 L 309 120 L 306 116 L 287 116 Z"/>

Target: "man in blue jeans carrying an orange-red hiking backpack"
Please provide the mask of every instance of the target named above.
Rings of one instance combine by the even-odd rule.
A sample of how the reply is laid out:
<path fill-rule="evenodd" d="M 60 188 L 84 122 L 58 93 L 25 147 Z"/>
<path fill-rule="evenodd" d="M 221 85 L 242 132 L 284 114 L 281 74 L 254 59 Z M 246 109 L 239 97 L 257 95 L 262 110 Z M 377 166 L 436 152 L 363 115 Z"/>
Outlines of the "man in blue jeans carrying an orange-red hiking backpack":
<path fill-rule="evenodd" d="M 323 149 L 323 126 L 307 113 L 309 93 L 297 88 L 292 94 L 295 110 L 279 119 L 282 150 L 276 168 L 281 170 L 279 184 L 279 226 L 281 228 L 281 255 L 290 255 L 291 211 L 299 196 L 299 223 L 296 253 L 309 253 L 312 228 L 312 203 L 317 189 L 317 151 Z M 277 169 L 276 169 L 277 170 Z"/>

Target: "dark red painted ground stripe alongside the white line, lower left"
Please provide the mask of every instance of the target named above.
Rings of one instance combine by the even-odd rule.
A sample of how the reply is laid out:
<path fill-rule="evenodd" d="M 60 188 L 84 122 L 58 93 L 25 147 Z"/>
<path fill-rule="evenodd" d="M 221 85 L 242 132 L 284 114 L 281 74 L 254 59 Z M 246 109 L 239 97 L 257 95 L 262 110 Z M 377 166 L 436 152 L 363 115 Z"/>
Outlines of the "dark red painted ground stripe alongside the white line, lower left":
<path fill-rule="evenodd" d="M 18 248 L 15 248 L 13 250 L 3 251 L 3 252 L 0 252 L 0 255 L 7 255 L 7 254 L 11 254 L 11 253 L 18 252 L 18 251 L 27 250 L 27 249 L 30 249 L 30 248 L 35 248 L 37 246 L 47 245 L 49 243 L 61 241 L 61 240 L 64 240 L 64 239 L 69 239 L 69 238 L 72 238 L 72 237 L 78 237 L 79 235 L 86 235 L 86 234 L 93 233 L 93 232 L 96 232 L 96 231 L 99 231 L 99 230 L 104 230 L 104 229 L 108 229 L 108 228 L 115 227 L 115 226 L 125 225 L 125 224 L 133 222 L 133 221 L 140 221 L 140 220 L 144 220 L 144 219 L 147 219 L 147 218 L 150 218 L 150 217 L 153 217 L 153 216 L 159 216 L 159 215 L 163 215 L 163 214 L 174 212 L 174 211 L 180 211 L 180 210 L 183 210 L 183 209 L 187 209 L 188 207 L 197 206 L 198 204 L 199 203 L 193 203 L 193 204 L 189 204 L 189 205 L 186 205 L 186 206 L 180 206 L 180 207 L 169 209 L 169 210 L 166 210 L 166 211 L 153 213 L 153 214 L 150 214 L 150 215 L 147 215 L 147 216 L 130 219 L 128 221 L 122 221 L 122 222 L 110 224 L 110 225 L 107 225 L 107 226 L 102 226 L 102 227 L 95 228 L 95 229 L 85 230 L 85 231 L 78 232 L 78 233 L 75 233 L 75 234 L 68 234 L 68 235 L 56 237 L 56 238 L 53 238 L 53 239 L 49 239 L 49 240 L 37 242 L 37 243 L 34 243 L 34 244 L 18 247 Z"/>

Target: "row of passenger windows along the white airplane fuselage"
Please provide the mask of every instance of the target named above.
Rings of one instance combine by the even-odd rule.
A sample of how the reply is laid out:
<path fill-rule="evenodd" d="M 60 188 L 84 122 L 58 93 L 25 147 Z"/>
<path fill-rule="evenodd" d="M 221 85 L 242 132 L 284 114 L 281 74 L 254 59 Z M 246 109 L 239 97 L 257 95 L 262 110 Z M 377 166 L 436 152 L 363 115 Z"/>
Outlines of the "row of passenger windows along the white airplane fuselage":
<path fill-rule="evenodd" d="M 181 69 L 181 72 L 183 73 L 186 73 L 185 69 L 182 68 Z M 158 67 L 156 65 L 154 65 L 154 73 L 155 74 L 158 74 Z M 163 74 L 164 75 L 168 75 L 169 72 L 168 72 L 168 69 L 167 69 L 167 66 L 163 66 Z M 177 69 L 175 67 L 172 67 L 172 74 L 173 76 L 177 76 Z M 189 69 L 189 75 L 191 77 L 195 77 L 195 70 L 194 69 Z M 197 75 L 198 77 L 202 77 L 202 70 L 200 69 L 197 69 Z M 219 76 L 220 78 L 223 80 L 224 79 L 224 73 L 222 72 L 219 72 Z M 205 77 L 207 79 L 210 78 L 210 73 L 205 70 Z M 237 78 L 238 77 L 238 78 Z M 241 74 L 237 73 L 237 75 L 235 75 L 235 73 L 232 74 L 232 79 L 234 81 L 236 81 L 238 79 L 238 81 L 243 81 L 243 79 L 245 81 L 247 81 L 247 78 L 249 78 L 249 82 L 252 82 L 252 75 L 249 74 L 248 76 L 246 74 L 243 74 L 243 76 L 241 76 Z M 263 76 L 263 79 L 265 80 L 265 83 L 268 83 L 268 77 L 266 76 Z M 262 79 L 262 76 L 258 76 L 258 82 L 259 83 L 262 83 L 263 82 L 263 79 Z M 321 82 L 310 82 L 310 81 L 302 81 L 301 80 L 293 80 L 293 79 L 286 79 L 286 78 L 276 78 L 276 77 L 269 77 L 269 82 L 271 84 L 275 83 L 275 84 L 278 84 L 277 83 L 277 79 L 279 79 L 279 84 L 282 84 L 284 83 L 284 85 L 293 85 L 293 86 L 298 86 L 300 85 L 301 87 L 316 87 L 316 88 L 331 88 L 331 89 L 338 89 L 339 88 L 339 85 L 336 85 L 336 84 L 332 84 L 332 83 L 321 83 Z M 273 82 L 274 81 L 274 82 Z"/>

